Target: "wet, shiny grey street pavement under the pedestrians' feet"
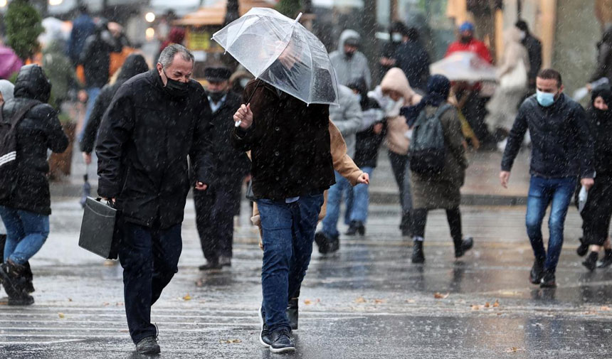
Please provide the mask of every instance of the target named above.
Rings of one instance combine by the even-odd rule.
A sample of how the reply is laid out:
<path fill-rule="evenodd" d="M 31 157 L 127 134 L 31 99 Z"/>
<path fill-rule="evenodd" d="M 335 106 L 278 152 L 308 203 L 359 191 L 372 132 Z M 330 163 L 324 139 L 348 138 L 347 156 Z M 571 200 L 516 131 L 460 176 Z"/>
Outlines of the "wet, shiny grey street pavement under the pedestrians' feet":
<path fill-rule="evenodd" d="M 261 252 L 243 203 L 231 268 L 204 274 L 188 204 L 179 273 L 153 307 L 161 358 L 610 358 L 612 269 L 587 273 L 571 208 L 557 289 L 527 282 L 524 208 L 464 207 L 475 247 L 460 261 L 443 211 L 428 218 L 426 264 L 409 262 L 399 208 L 373 205 L 365 237 L 313 254 L 297 353 L 258 342 Z M 31 261 L 36 304 L 0 306 L 0 358 L 139 358 L 127 333 L 121 267 L 81 250 L 82 211 L 56 199 L 51 235 Z M 341 226 L 344 229 L 344 226 Z M 546 236 L 546 230 L 545 236 Z"/>

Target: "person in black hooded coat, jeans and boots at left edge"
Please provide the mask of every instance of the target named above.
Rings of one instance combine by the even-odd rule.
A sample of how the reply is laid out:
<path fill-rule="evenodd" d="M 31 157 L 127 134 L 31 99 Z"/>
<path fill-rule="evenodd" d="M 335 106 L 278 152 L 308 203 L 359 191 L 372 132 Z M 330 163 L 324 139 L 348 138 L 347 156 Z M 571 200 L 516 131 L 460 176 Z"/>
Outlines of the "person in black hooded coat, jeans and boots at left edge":
<path fill-rule="evenodd" d="M 16 127 L 16 160 L 3 162 L 0 178 L 0 217 L 6 227 L 4 264 L 0 267 L 9 304 L 28 305 L 33 291 L 28 259 L 41 249 L 49 234 L 51 195 L 47 149 L 60 153 L 68 147 L 56 111 L 48 105 L 51 84 L 38 65 L 21 68 L 14 98 L 4 103 L 2 126 L 23 113 Z"/>

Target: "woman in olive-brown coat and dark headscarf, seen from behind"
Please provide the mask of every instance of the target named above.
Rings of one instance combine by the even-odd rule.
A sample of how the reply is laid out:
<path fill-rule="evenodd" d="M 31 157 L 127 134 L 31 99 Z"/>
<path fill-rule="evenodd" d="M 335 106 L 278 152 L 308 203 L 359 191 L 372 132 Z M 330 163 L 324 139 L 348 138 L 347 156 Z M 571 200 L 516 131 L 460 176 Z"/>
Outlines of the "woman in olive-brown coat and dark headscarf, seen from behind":
<path fill-rule="evenodd" d="M 425 262 L 423 240 L 428 210 L 443 208 L 455 244 L 455 257 L 462 257 L 473 246 L 473 239 L 463 239 L 459 189 L 465 181 L 465 139 L 457 109 L 448 105 L 450 81 L 442 75 L 433 75 L 427 82 L 427 95 L 418 105 L 403 108 L 402 113 L 411 127 L 420 126 L 419 119 L 438 117 L 442 127 L 445 157 L 441 171 L 415 172 L 411 168 L 413 202 L 413 263 Z M 440 111 L 438 111 L 440 109 Z M 415 141 L 416 139 L 412 139 Z"/>

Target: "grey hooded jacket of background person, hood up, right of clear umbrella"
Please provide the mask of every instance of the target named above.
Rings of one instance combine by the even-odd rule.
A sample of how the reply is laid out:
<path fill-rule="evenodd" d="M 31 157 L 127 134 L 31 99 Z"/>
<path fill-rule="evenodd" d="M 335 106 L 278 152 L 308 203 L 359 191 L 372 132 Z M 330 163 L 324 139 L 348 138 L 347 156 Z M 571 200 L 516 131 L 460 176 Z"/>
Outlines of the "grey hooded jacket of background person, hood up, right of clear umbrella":
<path fill-rule="evenodd" d="M 344 43 L 349 38 L 357 38 L 361 41 L 361 36 L 359 36 L 357 31 L 349 29 L 344 30 L 342 34 L 340 34 L 338 50 L 329 54 L 329 60 L 332 62 L 339 85 L 346 86 L 350 82 L 362 78 L 366 81 L 366 86 L 370 88 L 371 73 L 366 56 L 360 51 L 355 51 L 352 57 L 348 57 L 344 53 Z"/>

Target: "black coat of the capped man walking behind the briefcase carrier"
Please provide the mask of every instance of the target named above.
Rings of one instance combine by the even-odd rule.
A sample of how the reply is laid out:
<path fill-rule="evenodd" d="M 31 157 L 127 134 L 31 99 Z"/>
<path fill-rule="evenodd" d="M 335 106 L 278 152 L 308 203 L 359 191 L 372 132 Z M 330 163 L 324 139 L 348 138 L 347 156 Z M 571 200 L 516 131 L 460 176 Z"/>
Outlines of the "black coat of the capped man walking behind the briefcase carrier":
<path fill-rule="evenodd" d="M 213 112 L 211 117 L 214 125 L 212 153 L 215 183 L 227 189 L 232 188 L 233 191 L 240 191 L 240 183 L 250 171 L 250 160 L 246 153 L 234 149 L 231 144 L 233 114 L 240 105 L 241 98 L 233 92 L 228 92 L 223 105 Z"/>

